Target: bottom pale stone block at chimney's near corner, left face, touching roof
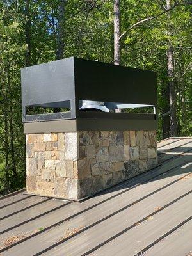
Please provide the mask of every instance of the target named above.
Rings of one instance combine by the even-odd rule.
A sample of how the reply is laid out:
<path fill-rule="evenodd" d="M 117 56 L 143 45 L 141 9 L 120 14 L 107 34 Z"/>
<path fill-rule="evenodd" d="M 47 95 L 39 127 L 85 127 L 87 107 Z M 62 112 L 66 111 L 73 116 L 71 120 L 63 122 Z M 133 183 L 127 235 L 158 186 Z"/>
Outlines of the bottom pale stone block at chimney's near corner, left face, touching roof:
<path fill-rule="evenodd" d="M 81 198 L 81 189 L 79 186 L 79 180 L 67 178 L 65 180 L 65 196 L 68 199 Z"/>

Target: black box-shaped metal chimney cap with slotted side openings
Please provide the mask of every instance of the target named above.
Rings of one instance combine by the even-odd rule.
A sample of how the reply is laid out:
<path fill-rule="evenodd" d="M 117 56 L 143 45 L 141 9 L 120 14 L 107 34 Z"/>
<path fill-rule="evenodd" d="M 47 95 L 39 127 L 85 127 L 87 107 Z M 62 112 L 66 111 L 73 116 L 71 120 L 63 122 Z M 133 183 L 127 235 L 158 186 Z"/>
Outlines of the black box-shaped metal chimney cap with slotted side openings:
<path fill-rule="evenodd" d="M 131 119 L 128 113 L 84 114 L 79 110 L 84 100 L 104 102 L 104 108 L 110 109 L 157 108 L 156 73 L 148 70 L 70 57 L 22 68 L 21 81 L 23 122 L 76 118 Z M 70 111 L 26 115 L 27 107 L 70 108 Z M 147 129 L 157 127 L 157 115 L 151 115 L 152 118 L 148 115 L 140 114 L 133 118 L 140 122 L 135 122 L 132 127 L 144 129 L 142 122 L 148 119 L 153 122 L 148 122 Z M 87 127 L 86 130 L 89 129 Z M 95 129 L 98 129 L 97 125 Z"/>

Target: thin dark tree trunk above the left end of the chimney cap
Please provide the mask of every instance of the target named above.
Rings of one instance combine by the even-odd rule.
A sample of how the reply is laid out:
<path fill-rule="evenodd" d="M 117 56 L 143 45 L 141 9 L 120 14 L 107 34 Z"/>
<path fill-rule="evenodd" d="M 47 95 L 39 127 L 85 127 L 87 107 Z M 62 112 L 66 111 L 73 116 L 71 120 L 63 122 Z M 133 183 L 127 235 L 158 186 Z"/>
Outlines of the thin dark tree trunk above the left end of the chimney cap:
<path fill-rule="evenodd" d="M 26 67 L 31 66 L 31 17 L 30 17 L 30 0 L 26 0 Z"/>

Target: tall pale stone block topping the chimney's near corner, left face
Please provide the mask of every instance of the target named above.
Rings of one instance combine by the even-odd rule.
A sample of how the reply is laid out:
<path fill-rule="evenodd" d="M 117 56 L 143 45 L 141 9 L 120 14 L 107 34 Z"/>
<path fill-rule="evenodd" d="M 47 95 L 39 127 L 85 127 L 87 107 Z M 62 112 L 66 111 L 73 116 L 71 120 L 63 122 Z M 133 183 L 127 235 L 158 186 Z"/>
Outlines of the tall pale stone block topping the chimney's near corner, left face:
<path fill-rule="evenodd" d="M 65 159 L 77 160 L 77 132 L 65 134 Z"/>

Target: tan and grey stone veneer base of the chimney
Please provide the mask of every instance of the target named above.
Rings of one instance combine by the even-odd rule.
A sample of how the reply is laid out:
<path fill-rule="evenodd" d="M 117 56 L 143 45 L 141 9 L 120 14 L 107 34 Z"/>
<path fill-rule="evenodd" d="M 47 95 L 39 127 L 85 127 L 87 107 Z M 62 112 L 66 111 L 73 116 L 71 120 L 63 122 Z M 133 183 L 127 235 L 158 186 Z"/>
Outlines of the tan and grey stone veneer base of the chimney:
<path fill-rule="evenodd" d="M 27 191 L 79 199 L 156 166 L 156 131 L 26 136 Z"/>

